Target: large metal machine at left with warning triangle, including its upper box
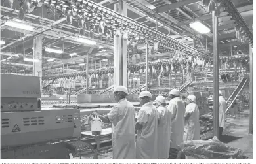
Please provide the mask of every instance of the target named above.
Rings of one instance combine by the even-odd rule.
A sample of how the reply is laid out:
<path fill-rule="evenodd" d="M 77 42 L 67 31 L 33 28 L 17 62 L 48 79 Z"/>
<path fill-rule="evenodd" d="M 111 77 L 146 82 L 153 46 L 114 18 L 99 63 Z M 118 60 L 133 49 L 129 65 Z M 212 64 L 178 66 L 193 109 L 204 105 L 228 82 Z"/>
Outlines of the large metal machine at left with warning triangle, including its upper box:
<path fill-rule="evenodd" d="M 1 74 L 1 159 L 64 159 L 53 143 L 80 137 L 79 110 L 41 110 L 40 95 L 39 77 Z"/>

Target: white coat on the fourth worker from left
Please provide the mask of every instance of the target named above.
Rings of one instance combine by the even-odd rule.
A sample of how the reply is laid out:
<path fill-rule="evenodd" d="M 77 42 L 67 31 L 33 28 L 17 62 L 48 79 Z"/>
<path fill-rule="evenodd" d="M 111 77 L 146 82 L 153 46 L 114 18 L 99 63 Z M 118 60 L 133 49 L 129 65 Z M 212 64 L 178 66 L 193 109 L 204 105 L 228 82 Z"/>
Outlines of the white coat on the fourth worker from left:
<path fill-rule="evenodd" d="M 171 114 L 175 116 L 173 120 L 171 120 L 170 148 L 177 148 L 177 146 L 183 142 L 184 115 L 186 109 L 183 101 L 179 97 L 171 99 L 167 108 L 171 111 Z"/>

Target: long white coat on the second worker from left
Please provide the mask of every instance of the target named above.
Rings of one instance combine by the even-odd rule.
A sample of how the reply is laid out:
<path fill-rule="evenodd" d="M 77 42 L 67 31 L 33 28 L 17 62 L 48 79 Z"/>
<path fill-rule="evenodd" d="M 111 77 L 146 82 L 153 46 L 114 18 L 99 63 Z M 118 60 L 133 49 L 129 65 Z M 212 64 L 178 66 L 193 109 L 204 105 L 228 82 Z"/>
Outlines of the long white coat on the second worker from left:
<path fill-rule="evenodd" d="M 139 110 L 137 123 L 136 159 L 158 159 L 158 110 L 148 102 Z"/>

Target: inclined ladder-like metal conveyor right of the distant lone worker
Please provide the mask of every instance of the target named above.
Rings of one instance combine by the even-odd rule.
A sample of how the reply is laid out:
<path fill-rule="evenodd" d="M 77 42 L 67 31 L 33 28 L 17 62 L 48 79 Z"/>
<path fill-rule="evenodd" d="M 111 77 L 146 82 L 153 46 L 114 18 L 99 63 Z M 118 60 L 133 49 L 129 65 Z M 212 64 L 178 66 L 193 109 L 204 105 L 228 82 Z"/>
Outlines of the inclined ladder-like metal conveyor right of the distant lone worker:
<path fill-rule="evenodd" d="M 226 101 L 226 112 L 228 112 L 228 110 L 232 107 L 234 101 L 236 101 L 236 97 L 238 97 L 247 82 L 248 78 L 243 78 L 242 81 L 238 84 L 238 87 L 236 87 L 236 90 L 234 90 L 232 95 L 230 95 L 230 97 Z"/>

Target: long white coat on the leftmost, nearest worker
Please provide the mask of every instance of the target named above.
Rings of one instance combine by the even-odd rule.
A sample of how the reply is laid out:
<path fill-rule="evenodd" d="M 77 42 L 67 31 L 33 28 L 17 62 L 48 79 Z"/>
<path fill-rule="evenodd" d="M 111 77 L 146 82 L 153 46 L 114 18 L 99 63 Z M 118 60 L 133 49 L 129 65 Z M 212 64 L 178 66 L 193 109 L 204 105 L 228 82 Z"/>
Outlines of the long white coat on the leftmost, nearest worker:
<path fill-rule="evenodd" d="M 113 159 L 135 159 L 135 108 L 121 99 L 108 113 L 112 122 Z"/>

